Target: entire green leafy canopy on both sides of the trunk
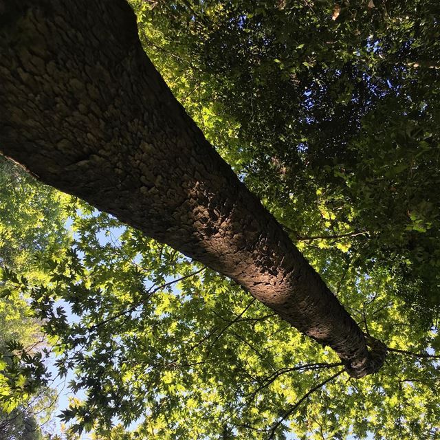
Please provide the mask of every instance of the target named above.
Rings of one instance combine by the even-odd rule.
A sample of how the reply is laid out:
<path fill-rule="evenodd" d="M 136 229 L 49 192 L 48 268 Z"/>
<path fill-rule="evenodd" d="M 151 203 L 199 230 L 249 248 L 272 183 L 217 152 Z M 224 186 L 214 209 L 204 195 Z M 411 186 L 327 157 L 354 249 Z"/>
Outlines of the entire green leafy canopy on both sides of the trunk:
<path fill-rule="evenodd" d="M 131 5 L 173 94 L 389 352 L 353 380 L 236 283 L 2 159 L 0 319 L 22 302 L 73 371 L 62 419 L 103 439 L 440 438 L 437 2 Z M 53 378 L 47 347 L 11 338 L 5 413 Z"/>

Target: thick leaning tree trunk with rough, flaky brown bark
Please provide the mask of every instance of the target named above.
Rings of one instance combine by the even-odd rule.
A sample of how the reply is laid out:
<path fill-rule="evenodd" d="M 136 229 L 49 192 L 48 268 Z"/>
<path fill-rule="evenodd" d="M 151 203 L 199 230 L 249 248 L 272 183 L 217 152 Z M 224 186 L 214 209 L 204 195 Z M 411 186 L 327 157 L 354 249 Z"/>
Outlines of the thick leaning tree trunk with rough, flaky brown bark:
<path fill-rule="evenodd" d="M 225 274 L 338 353 L 384 352 L 234 175 L 142 50 L 124 0 L 0 0 L 0 151 Z"/>

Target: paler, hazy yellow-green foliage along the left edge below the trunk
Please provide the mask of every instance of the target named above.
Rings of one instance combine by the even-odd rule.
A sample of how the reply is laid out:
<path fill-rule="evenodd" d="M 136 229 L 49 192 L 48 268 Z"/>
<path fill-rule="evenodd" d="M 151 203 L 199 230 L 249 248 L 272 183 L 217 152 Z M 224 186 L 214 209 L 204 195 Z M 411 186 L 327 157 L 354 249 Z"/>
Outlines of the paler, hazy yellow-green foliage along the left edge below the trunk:
<path fill-rule="evenodd" d="M 23 295 L 28 282 L 44 282 L 39 261 L 69 243 L 67 196 L 34 180 L 0 157 L 0 438 L 41 440 L 54 405 L 47 388 L 41 321 Z M 47 227 L 47 222 L 50 227 Z M 19 275 L 17 275 L 17 273 Z"/>

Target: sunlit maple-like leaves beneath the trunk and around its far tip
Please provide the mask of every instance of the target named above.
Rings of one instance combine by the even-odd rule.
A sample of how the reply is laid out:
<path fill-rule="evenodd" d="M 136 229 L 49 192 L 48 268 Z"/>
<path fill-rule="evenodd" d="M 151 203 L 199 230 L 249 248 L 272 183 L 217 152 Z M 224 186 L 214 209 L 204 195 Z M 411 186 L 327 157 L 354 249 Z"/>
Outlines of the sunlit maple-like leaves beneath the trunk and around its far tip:
<path fill-rule="evenodd" d="M 71 216 L 72 247 L 46 261 L 50 283 L 29 285 L 28 294 L 53 338 L 61 375 L 74 369 L 70 388 L 86 391 L 63 411 L 65 421 L 76 419 L 74 431 L 107 438 L 114 423 L 135 422 L 134 432 L 115 438 L 438 434 L 439 376 L 423 358 L 439 348 L 438 333 L 411 323 L 386 271 L 349 270 L 340 298 L 366 331 L 421 357 L 392 353 L 377 375 L 338 375 L 309 394 L 340 373 L 332 351 L 231 281 L 107 214 L 83 206 Z M 344 270 L 326 276 L 340 280 Z"/>

